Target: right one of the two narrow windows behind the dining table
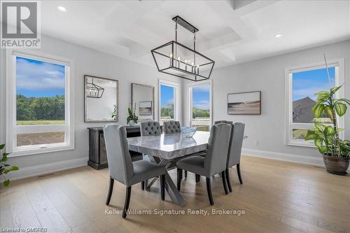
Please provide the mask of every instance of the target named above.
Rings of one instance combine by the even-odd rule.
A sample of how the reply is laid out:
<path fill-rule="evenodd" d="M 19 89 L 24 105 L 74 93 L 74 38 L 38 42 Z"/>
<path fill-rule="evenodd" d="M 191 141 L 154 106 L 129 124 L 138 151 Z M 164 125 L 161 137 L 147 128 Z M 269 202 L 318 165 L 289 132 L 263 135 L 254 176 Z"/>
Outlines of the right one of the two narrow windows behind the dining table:
<path fill-rule="evenodd" d="M 190 126 L 199 131 L 210 131 L 211 127 L 211 83 L 189 86 Z"/>

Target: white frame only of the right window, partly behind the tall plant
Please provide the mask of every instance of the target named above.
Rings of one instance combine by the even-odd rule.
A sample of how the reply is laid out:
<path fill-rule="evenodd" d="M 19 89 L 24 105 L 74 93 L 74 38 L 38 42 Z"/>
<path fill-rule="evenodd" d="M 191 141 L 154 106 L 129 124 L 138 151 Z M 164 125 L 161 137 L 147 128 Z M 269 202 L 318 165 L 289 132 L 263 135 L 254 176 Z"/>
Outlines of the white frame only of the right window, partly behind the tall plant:
<path fill-rule="evenodd" d="M 335 85 L 344 83 L 344 58 L 332 59 L 327 61 L 328 67 L 335 67 Z M 303 141 L 293 139 L 293 129 L 313 129 L 312 123 L 293 123 L 293 74 L 301 71 L 311 71 L 314 69 L 324 69 L 325 62 L 316 62 L 304 66 L 286 68 L 286 145 L 288 146 L 305 146 L 316 148 L 313 141 Z M 344 87 L 336 94 L 336 98 L 344 97 Z M 338 118 L 339 127 L 344 128 L 344 118 Z M 344 137 L 344 132 L 340 133 Z"/>

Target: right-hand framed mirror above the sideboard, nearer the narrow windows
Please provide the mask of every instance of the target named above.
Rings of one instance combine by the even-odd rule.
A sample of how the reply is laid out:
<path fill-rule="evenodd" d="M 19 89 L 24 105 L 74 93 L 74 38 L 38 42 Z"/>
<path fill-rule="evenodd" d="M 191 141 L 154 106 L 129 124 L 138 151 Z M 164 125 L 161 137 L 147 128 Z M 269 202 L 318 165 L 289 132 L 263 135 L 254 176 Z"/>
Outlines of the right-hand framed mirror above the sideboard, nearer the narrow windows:
<path fill-rule="evenodd" d="M 132 108 L 135 108 L 136 104 L 135 114 L 139 121 L 155 120 L 154 99 L 153 86 L 132 83 Z"/>

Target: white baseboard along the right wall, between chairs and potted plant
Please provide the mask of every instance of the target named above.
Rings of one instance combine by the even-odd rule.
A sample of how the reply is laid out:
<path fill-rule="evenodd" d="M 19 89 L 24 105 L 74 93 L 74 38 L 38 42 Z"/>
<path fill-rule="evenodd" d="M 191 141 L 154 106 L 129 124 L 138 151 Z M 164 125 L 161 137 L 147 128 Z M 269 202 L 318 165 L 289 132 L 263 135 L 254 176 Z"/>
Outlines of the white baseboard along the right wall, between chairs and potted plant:
<path fill-rule="evenodd" d="M 324 166 L 323 158 L 321 157 L 311 157 L 303 155 L 293 155 L 287 153 L 278 153 L 265 150 L 253 150 L 253 149 L 242 149 L 242 155 L 248 155 L 253 157 L 265 157 L 272 160 L 281 160 L 288 162 L 297 162 L 301 164 L 311 164 L 316 166 Z"/>

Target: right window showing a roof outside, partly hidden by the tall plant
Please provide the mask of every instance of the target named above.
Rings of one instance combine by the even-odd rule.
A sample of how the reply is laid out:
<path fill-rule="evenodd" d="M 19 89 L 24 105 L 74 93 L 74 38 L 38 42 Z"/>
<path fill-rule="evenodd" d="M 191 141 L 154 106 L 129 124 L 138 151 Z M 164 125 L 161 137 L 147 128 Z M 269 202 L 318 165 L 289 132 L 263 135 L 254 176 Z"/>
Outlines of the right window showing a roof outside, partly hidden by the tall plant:
<path fill-rule="evenodd" d="M 314 146 L 313 141 L 304 141 L 308 129 L 314 128 L 314 113 L 311 111 L 316 103 L 316 92 L 330 90 L 330 87 L 339 85 L 342 77 L 339 72 L 342 69 L 342 62 L 330 62 L 328 73 L 325 65 L 307 66 L 306 68 L 287 70 L 287 144 L 296 146 Z M 337 93 L 342 95 L 342 92 Z M 331 124 L 330 119 L 324 115 L 318 118 L 318 122 Z M 344 122 L 340 121 L 340 125 Z"/>

